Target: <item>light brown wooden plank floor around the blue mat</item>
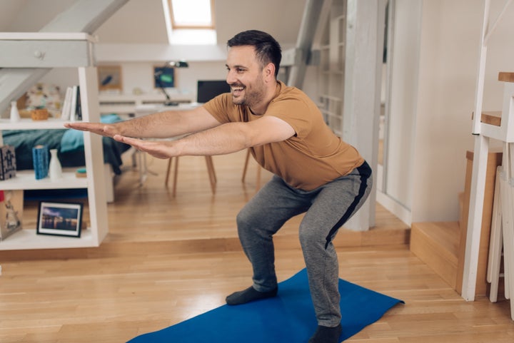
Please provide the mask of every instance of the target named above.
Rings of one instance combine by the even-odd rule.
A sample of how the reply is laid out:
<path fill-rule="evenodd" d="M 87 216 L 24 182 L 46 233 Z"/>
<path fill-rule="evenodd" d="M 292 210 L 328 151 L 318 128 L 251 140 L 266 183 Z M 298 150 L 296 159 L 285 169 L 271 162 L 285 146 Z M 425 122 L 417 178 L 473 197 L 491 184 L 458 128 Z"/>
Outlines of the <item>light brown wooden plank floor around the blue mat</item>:
<path fill-rule="evenodd" d="M 116 185 L 101 247 L 1 252 L 0 342 L 126 342 L 247 287 L 251 267 L 234 218 L 256 191 L 256 166 L 243 184 L 243 160 L 243 153 L 214 158 L 212 195 L 203 158 L 182 158 L 175 198 L 163 186 L 166 161 L 149 160 L 157 175 L 144 185 L 130 169 Z M 35 217 L 36 204 L 26 203 L 24 221 Z M 280 280 L 303 268 L 299 220 L 275 240 Z M 465 302 L 409 251 L 408 234 L 381 206 L 376 227 L 339 233 L 340 276 L 405 301 L 346 342 L 514 342 L 508 302 Z"/>

